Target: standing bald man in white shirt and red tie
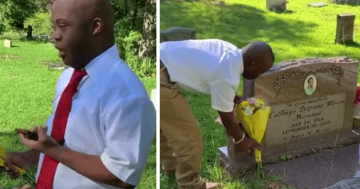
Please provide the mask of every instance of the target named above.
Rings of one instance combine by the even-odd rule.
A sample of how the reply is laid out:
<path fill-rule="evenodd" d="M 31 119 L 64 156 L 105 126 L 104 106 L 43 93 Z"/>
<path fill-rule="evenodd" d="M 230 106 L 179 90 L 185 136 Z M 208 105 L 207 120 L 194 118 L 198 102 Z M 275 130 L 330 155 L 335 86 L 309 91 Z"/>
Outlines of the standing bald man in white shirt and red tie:
<path fill-rule="evenodd" d="M 20 134 L 30 150 L 9 153 L 6 170 L 16 177 L 11 164 L 26 170 L 38 164 L 39 184 L 47 155 L 58 161 L 53 189 L 132 189 L 147 159 L 156 114 L 142 83 L 119 58 L 111 4 L 108 0 L 55 0 L 51 12 L 55 47 L 70 68 L 58 78 L 47 127 L 33 129 L 39 140 Z M 50 133 L 59 98 L 74 70 L 87 74 L 72 96 L 61 145 Z"/>

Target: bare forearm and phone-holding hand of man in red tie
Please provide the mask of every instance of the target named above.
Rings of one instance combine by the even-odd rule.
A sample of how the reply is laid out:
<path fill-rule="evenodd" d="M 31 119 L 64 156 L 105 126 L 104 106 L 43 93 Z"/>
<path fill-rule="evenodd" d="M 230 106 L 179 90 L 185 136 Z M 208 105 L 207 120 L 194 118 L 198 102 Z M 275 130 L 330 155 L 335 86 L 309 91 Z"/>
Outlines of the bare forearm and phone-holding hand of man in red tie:
<path fill-rule="evenodd" d="M 49 155 L 93 181 L 124 189 L 135 188 L 113 175 L 102 163 L 100 157 L 86 155 L 61 146 L 55 139 L 46 135 L 46 129 L 44 126 L 38 129 L 38 141 L 27 139 L 24 134 L 20 134 L 20 140 L 28 148 Z"/>

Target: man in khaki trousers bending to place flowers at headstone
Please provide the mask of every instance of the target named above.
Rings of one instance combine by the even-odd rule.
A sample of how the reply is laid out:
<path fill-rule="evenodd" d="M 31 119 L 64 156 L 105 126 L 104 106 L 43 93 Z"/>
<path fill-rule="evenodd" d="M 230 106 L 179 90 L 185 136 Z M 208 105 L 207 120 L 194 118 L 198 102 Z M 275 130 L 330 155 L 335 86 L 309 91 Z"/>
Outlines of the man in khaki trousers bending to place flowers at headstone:
<path fill-rule="evenodd" d="M 237 151 L 260 148 L 239 126 L 233 111 L 240 75 L 255 79 L 274 61 L 270 46 L 253 42 L 238 49 L 219 39 L 168 41 L 160 44 L 160 161 L 175 173 L 179 189 L 212 189 L 199 175 L 202 157 L 200 129 L 179 87 L 211 95 Z"/>

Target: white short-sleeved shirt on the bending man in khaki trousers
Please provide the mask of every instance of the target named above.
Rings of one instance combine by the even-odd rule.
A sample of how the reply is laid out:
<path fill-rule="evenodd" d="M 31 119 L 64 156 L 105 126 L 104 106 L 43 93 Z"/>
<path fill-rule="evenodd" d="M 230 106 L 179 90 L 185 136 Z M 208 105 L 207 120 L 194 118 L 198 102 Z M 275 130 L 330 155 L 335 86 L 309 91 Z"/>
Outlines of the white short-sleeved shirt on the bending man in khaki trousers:
<path fill-rule="evenodd" d="M 244 71 L 242 50 L 220 39 L 160 43 L 160 60 L 180 87 L 211 95 L 212 108 L 231 112 Z"/>

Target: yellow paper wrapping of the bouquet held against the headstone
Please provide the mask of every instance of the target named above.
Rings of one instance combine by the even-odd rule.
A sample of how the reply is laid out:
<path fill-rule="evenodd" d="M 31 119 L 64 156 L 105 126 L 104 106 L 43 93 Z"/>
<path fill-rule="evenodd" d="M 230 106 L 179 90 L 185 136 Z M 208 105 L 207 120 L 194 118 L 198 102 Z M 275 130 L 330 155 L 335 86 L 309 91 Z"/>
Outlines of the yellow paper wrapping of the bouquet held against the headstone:
<path fill-rule="evenodd" d="M 262 102 L 262 104 L 264 103 L 261 100 L 258 102 Z M 241 104 L 241 106 L 242 105 L 247 105 L 247 103 L 244 102 Z M 258 143 L 261 143 L 263 140 L 266 126 L 268 125 L 270 110 L 270 106 L 266 106 L 265 108 L 256 111 L 253 115 L 245 115 L 242 107 L 239 106 L 236 109 L 237 120 L 244 126 L 244 129 L 249 134 L 249 136 Z M 255 159 L 256 162 L 261 161 L 261 152 L 259 150 L 255 150 Z"/>

